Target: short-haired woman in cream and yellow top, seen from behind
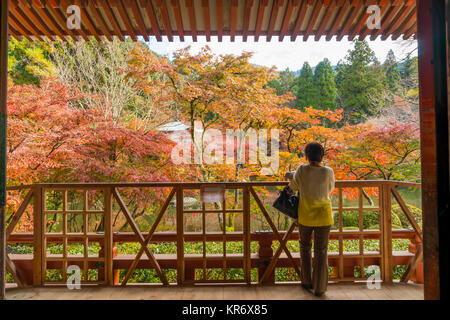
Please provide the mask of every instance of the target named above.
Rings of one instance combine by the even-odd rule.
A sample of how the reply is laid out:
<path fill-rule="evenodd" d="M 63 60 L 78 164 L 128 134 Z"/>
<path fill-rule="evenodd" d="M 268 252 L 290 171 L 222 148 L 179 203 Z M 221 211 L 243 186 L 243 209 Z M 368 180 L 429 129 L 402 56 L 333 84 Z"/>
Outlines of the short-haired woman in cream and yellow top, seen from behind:
<path fill-rule="evenodd" d="M 321 164 L 324 149 L 317 142 L 305 148 L 309 164 L 298 167 L 287 191 L 300 192 L 298 224 L 300 230 L 301 281 L 305 289 L 322 296 L 328 284 L 328 236 L 333 215 L 330 194 L 334 190 L 334 172 Z M 314 233 L 314 265 L 311 271 L 311 239 Z"/>

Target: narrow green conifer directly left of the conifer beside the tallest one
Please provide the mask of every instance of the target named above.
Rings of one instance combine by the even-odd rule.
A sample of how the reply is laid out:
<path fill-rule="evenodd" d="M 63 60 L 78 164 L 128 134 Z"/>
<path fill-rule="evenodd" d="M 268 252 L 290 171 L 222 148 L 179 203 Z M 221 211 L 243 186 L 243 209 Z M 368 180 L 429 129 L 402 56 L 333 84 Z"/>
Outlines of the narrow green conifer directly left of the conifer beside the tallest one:
<path fill-rule="evenodd" d="M 314 76 L 311 66 L 308 62 L 303 64 L 300 75 L 296 79 L 297 87 L 297 107 L 304 109 L 306 107 L 315 106 L 317 103 L 317 88 L 314 85 Z"/>

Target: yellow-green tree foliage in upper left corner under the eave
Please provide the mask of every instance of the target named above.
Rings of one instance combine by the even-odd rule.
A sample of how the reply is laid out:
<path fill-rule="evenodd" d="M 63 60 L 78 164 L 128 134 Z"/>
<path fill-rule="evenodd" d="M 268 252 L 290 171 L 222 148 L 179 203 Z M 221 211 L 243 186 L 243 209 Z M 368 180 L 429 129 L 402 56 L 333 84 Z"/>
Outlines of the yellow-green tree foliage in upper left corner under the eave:
<path fill-rule="evenodd" d="M 42 79 L 54 75 L 54 66 L 40 41 L 12 38 L 8 44 L 8 74 L 16 85 L 39 86 Z"/>

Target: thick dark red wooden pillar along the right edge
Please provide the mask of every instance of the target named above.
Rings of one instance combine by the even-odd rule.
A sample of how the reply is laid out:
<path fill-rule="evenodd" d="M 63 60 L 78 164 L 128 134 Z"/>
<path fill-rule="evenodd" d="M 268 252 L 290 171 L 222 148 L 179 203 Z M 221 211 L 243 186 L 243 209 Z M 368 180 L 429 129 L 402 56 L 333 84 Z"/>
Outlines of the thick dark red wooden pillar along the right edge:
<path fill-rule="evenodd" d="M 439 240 L 445 235 L 439 234 L 438 214 L 443 219 L 448 216 L 448 106 L 444 102 L 446 68 L 442 65 L 446 42 L 444 16 L 443 0 L 417 0 L 425 299 L 440 298 L 439 264 L 443 261 Z M 442 249 L 446 247 L 448 243 Z"/>

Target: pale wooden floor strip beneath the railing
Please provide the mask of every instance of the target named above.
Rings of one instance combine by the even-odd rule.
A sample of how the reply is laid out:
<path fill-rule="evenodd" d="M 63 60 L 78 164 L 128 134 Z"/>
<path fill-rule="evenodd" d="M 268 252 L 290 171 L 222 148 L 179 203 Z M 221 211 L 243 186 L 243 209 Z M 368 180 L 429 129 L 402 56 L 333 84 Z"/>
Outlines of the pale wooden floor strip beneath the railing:
<path fill-rule="evenodd" d="M 81 290 L 54 288 L 11 288 L 10 300 L 422 300 L 423 285 L 413 283 L 381 284 L 380 289 L 368 289 L 362 283 L 329 284 L 326 295 L 316 298 L 299 285 L 276 286 L 190 286 L 156 287 L 83 287 Z"/>

